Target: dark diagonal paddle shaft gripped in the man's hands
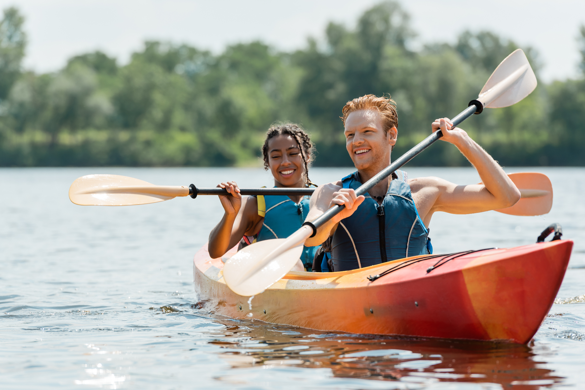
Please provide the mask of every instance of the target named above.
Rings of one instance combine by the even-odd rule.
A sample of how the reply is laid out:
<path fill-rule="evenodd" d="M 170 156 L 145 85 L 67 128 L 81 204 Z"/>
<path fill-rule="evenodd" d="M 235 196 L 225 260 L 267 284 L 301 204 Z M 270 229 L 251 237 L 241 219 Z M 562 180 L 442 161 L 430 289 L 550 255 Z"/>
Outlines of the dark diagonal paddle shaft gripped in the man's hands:
<path fill-rule="evenodd" d="M 474 113 L 476 113 L 476 112 L 480 113 L 482 109 L 483 109 L 483 106 L 481 106 L 480 102 L 475 101 L 475 100 L 471 101 L 469 103 L 469 107 L 467 107 L 462 112 L 460 112 L 459 115 L 457 115 L 455 118 L 451 119 L 451 122 L 453 122 L 453 127 L 459 125 L 459 123 L 463 122 L 464 120 L 466 120 L 467 118 L 472 116 Z M 421 151 L 423 151 L 426 148 L 428 148 L 429 146 L 431 146 L 431 144 L 433 142 L 435 142 L 436 140 L 438 140 L 442 136 L 443 136 L 443 133 L 441 132 L 441 130 L 437 130 L 436 132 L 432 133 L 430 136 L 426 137 L 417 146 L 413 147 L 411 150 L 407 151 L 407 153 L 404 153 L 404 154 L 402 154 L 402 156 L 398 157 L 397 160 L 394 161 L 394 163 L 388 165 L 386 168 L 384 168 L 383 170 L 378 172 L 378 174 L 375 175 L 373 178 L 371 178 L 370 180 L 368 180 L 364 184 L 362 184 L 360 186 L 360 188 L 356 189 L 356 195 L 360 196 L 360 195 L 366 194 L 366 192 L 368 192 L 370 190 L 370 188 L 374 187 L 374 185 L 376 185 L 379 182 L 381 182 L 382 180 L 386 179 L 395 170 L 402 167 L 402 165 L 408 163 L 408 161 L 412 160 L 412 158 L 417 156 L 417 154 L 421 153 Z M 327 210 L 326 212 L 324 212 L 319 218 L 315 219 L 312 222 L 305 222 L 305 223 L 303 223 L 303 225 L 308 225 L 308 226 L 312 227 L 313 234 L 311 237 L 313 237 L 317 233 L 317 229 L 319 227 L 324 225 L 329 219 L 333 218 L 333 216 L 337 215 L 341 210 L 343 210 L 343 208 L 345 208 L 345 206 L 335 205 L 332 208 L 330 208 L 329 210 Z"/>

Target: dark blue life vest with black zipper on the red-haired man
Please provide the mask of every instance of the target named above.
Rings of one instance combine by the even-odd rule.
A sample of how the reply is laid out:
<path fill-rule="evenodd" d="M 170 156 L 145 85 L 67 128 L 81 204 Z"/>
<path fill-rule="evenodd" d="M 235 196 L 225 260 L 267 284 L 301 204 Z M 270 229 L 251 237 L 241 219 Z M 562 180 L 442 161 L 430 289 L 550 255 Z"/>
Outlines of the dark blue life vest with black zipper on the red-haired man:
<path fill-rule="evenodd" d="M 412 200 L 407 174 L 396 171 L 381 206 L 369 194 L 342 219 L 333 234 L 333 271 L 355 270 L 419 254 L 432 253 L 428 230 Z M 342 179 L 343 188 L 362 185 L 357 172 Z M 382 237 L 381 237 L 382 236 Z"/>

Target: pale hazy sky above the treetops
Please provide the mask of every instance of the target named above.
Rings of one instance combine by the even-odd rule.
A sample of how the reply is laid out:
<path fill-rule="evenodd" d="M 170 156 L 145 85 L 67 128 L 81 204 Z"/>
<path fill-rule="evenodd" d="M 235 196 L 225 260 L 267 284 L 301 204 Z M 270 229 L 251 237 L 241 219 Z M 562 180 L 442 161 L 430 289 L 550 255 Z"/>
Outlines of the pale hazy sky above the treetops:
<path fill-rule="evenodd" d="M 144 40 L 170 40 L 219 53 L 228 44 L 260 39 L 279 50 L 322 38 L 326 23 L 347 27 L 373 0 L 0 0 L 26 18 L 25 67 L 56 71 L 67 59 L 102 50 L 128 61 Z M 449 42 L 470 29 L 491 30 L 539 53 L 544 81 L 578 77 L 576 37 L 585 24 L 584 0 L 403 0 L 418 33 L 414 47 Z"/>

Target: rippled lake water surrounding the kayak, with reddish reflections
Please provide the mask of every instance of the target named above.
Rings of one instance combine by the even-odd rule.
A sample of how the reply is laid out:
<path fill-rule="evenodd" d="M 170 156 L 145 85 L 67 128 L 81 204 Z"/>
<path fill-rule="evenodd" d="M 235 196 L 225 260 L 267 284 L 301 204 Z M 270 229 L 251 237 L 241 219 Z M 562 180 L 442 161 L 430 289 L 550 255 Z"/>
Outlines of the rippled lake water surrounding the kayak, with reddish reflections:
<path fill-rule="evenodd" d="M 435 253 L 533 243 L 552 222 L 574 240 L 558 298 L 585 294 L 585 169 L 541 171 L 546 216 L 436 213 Z M 479 182 L 472 168 L 409 168 Z M 349 168 L 314 168 L 322 183 Z M 77 206 L 68 188 L 111 173 L 165 185 L 271 185 L 260 169 L 0 169 L 0 380 L 5 389 L 583 388 L 585 299 L 553 305 L 528 346 L 315 332 L 201 312 L 192 258 L 221 218 L 214 196 Z M 349 355 L 349 356 L 348 356 Z"/>

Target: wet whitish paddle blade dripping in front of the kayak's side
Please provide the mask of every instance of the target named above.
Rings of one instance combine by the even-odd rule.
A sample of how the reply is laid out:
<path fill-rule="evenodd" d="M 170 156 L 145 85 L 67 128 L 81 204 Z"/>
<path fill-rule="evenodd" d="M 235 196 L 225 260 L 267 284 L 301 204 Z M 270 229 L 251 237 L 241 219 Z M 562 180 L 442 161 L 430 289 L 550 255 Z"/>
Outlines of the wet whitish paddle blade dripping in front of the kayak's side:
<path fill-rule="evenodd" d="M 260 294 L 283 278 L 297 264 L 302 254 L 302 243 L 292 247 L 269 261 L 262 267 L 264 260 L 287 239 L 264 240 L 253 243 L 238 251 L 223 265 L 223 279 L 233 292 L 242 296 Z M 249 277 L 249 271 L 260 268 Z"/>

